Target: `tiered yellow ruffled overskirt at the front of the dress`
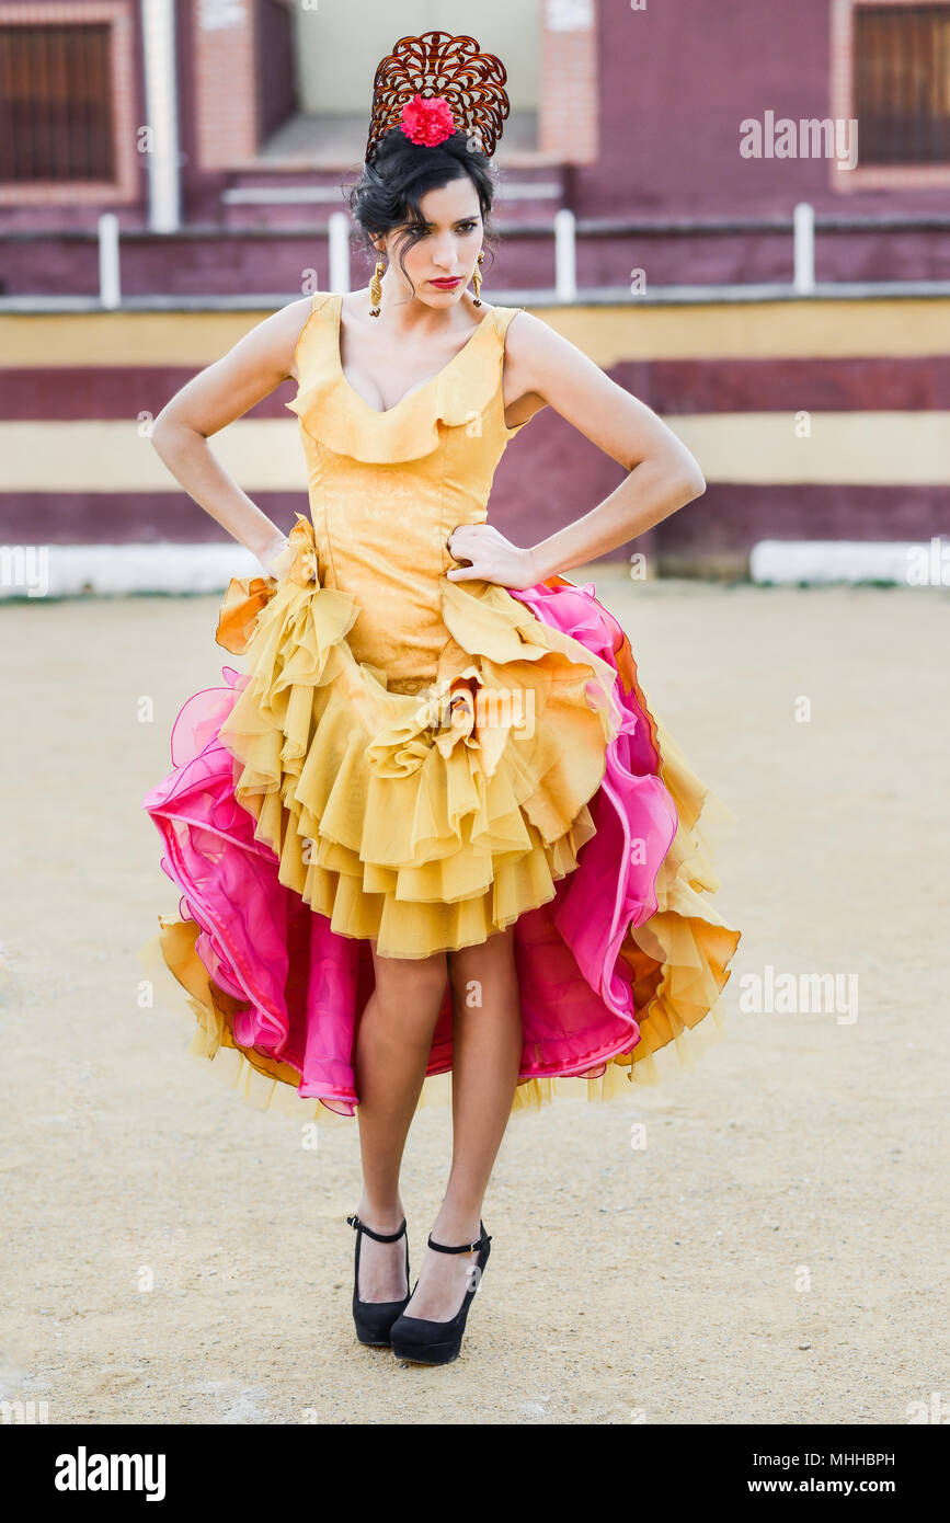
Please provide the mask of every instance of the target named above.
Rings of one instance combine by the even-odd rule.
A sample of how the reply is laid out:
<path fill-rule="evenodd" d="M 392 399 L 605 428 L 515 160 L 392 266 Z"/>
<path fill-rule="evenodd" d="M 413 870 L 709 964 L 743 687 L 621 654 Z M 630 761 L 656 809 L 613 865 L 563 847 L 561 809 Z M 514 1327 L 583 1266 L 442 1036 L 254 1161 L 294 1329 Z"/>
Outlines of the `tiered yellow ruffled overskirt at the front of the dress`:
<path fill-rule="evenodd" d="M 551 900 L 594 835 L 614 669 L 504 588 L 443 577 L 435 688 L 390 691 L 346 641 L 358 603 L 320 586 L 303 515 L 288 556 L 250 635 L 242 599 L 259 588 L 231 583 L 218 637 L 238 632 L 248 656 L 221 742 L 280 882 L 402 958 L 481 943 Z"/>

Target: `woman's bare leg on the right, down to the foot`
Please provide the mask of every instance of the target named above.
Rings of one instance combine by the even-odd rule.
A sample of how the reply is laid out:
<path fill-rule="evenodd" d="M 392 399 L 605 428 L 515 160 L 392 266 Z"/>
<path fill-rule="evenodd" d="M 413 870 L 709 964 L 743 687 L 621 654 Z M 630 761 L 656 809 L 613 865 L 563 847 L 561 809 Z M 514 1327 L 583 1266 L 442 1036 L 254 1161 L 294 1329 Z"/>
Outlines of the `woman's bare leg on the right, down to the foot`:
<path fill-rule="evenodd" d="M 438 1243 L 475 1243 L 521 1063 L 515 928 L 448 953 L 452 984 L 452 1168 L 432 1226 Z M 406 1316 L 448 1322 L 458 1311 L 475 1253 L 426 1249 Z"/>

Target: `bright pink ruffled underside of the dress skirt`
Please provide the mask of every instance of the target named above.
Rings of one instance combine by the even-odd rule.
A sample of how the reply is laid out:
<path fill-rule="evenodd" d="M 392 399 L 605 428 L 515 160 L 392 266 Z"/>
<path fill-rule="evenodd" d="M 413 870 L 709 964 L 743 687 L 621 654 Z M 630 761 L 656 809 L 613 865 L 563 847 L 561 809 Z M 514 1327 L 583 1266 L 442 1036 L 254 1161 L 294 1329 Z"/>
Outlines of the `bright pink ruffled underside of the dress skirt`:
<path fill-rule="evenodd" d="M 534 615 L 609 661 L 624 640 L 592 583 L 539 583 L 512 592 Z M 244 1008 L 233 1036 L 300 1075 L 298 1094 L 353 1115 L 359 1103 L 352 1051 L 375 985 L 370 944 L 330 931 L 280 883 L 277 856 L 254 839 L 253 816 L 234 798 L 231 754 L 218 739 L 242 682 L 195 693 L 172 728 L 174 771 L 142 801 L 163 844 L 163 871 L 181 889 L 180 915 L 199 934 L 209 978 Z M 519 1078 L 597 1078 L 609 1058 L 639 1042 L 621 943 L 658 908 L 656 874 L 677 830 L 676 806 L 659 777 L 652 725 L 633 684 L 614 688 L 623 723 L 609 743 L 600 789 L 588 807 L 597 825 L 577 868 L 553 900 L 515 923 L 521 990 Z M 446 985 L 426 1075 L 452 1066 Z"/>

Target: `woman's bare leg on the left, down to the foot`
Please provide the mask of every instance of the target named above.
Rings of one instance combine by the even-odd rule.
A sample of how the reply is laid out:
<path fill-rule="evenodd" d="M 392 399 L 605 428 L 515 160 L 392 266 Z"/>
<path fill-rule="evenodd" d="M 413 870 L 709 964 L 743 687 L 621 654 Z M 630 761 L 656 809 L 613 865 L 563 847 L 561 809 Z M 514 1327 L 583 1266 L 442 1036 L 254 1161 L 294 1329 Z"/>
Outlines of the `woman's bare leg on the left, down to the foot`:
<path fill-rule="evenodd" d="M 356 1034 L 353 1069 L 359 1104 L 362 1196 L 356 1214 L 375 1232 L 397 1232 L 405 1215 L 399 1168 L 425 1078 L 432 1033 L 446 987 L 446 955 L 388 958 L 373 949 L 376 988 Z M 405 1282 L 405 1238 L 359 1249 L 362 1301 L 399 1301 Z"/>

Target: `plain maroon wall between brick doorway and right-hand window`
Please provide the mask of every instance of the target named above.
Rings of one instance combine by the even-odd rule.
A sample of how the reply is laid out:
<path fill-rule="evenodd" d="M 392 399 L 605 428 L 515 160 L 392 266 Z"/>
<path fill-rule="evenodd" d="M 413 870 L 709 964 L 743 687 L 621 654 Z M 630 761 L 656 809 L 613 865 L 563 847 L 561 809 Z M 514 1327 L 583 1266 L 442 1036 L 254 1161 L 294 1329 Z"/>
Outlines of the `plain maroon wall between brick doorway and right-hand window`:
<path fill-rule="evenodd" d="M 601 154 L 583 216 L 947 212 L 950 189 L 828 187 L 818 158 L 741 158 L 743 117 L 831 116 L 830 0 L 600 0 Z M 843 174 L 843 172 L 842 172 Z"/>

